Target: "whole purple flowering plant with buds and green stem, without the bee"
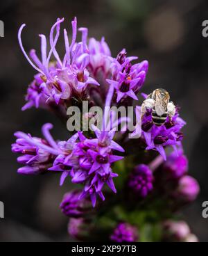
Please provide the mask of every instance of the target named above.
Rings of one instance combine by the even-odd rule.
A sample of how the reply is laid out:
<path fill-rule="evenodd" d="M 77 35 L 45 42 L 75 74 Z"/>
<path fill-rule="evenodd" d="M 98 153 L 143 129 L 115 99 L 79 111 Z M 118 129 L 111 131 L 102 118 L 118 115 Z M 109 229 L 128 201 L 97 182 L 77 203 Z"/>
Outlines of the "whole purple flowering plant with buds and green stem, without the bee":
<path fill-rule="evenodd" d="M 76 18 L 71 22 L 70 43 L 67 30 L 63 31 L 61 58 L 56 45 L 62 22 L 57 19 L 51 28 L 49 50 L 46 36 L 40 35 L 41 58 L 34 49 L 26 54 L 21 41 L 25 24 L 19 29 L 21 50 L 37 71 L 22 110 L 48 109 L 65 121 L 70 106 L 83 113 L 81 104 L 87 101 L 103 109 L 103 123 L 98 127 L 92 122 L 93 113 L 83 113 L 89 129 L 80 124 L 66 141 L 51 136 L 49 123 L 42 127 L 44 138 L 15 132 L 12 152 L 21 154 L 17 161 L 23 165 L 18 173 L 55 172 L 60 173 L 60 185 L 70 180 L 77 184 L 76 190 L 64 195 L 60 209 L 69 217 L 69 234 L 81 241 L 197 241 L 187 224 L 176 218 L 176 211 L 199 192 L 196 180 L 187 175 L 181 131 L 185 122 L 179 108 L 161 125 L 153 122 L 153 109 L 141 115 L 138 97 L 148 61 L 135 63 L 137 57 L 127 56 L 125 49 L 114 58 L 104 38 L 87 39 L 86 28 L 78 29 L 82 33 L 78 42 Z M 132 133 L 130 118 L 119 117 L 111 106 L 135 106 Z"/>

